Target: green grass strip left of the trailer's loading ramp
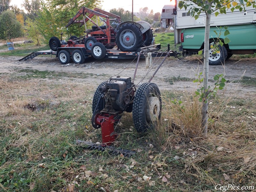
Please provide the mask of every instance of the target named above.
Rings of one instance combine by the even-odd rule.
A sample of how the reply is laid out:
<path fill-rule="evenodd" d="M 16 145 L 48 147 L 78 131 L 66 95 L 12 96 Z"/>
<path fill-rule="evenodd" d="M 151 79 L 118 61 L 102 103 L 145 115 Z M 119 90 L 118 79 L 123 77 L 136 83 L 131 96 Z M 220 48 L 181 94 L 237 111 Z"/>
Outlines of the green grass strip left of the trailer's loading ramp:
<path fill-rule="evenodd" d="M 7 45 L 1 46 L 0 50 L 6 50 L 4 52 L 0 52 L 0 56 L 26 56 L 29 53 L 48 50 L 50 49 L 49 45 L 43 46 L 35 46 L 34 44 L 14 44 L 14 50 L 8 51 Z"/>

